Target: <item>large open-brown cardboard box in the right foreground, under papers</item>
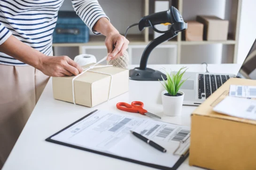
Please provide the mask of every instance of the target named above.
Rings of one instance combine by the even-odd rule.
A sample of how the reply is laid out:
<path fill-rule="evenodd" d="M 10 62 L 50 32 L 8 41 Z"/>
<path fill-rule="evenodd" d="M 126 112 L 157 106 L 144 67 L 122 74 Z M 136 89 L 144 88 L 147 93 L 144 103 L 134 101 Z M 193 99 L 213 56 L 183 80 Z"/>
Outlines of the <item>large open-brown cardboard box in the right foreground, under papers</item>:
<path fill-rule="evenodd" d="M 256 86 L 256 81 L 231 78 L 195 109 L 189 165 L 212 170 L 256 169 L 256 121 L 212 111 L 228 96 L 232 84 Z"/>

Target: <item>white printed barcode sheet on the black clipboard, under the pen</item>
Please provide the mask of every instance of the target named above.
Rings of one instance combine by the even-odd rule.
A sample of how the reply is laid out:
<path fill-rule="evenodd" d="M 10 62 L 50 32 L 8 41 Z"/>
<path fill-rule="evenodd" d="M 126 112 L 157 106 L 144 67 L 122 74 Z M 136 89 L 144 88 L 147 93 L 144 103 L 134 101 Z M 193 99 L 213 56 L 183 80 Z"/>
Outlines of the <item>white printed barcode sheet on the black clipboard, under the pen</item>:
<path fill-rule="evenodd" d="M 136 138 L 130 130 L 155 141 L 167 150 L 160 152 L 144 141 Z M 166 167 L 180 158 L 173 155 L 179 141 L 190 136 L 190 128 L 150 118 L 137 118 L 107 111 L 96 111 L 70 128 L 52 137 L 57 140 L 83 148 L 118 155 L 145 163 Z M 190 145 L 190 139 L 181 145 L 177 153 L 183 154 Z"/>

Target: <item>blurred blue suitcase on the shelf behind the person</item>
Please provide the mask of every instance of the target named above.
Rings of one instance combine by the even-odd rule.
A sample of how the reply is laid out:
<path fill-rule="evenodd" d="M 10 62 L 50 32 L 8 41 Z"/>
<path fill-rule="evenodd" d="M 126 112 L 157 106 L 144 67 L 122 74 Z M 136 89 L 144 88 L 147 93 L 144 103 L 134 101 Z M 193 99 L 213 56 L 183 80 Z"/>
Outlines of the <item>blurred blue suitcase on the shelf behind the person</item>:
<path fill-rule="evenodd" d="M 89 32 L 89 28 L 76 12 L 59 11 L 53 43 L 87 43 Z"/>

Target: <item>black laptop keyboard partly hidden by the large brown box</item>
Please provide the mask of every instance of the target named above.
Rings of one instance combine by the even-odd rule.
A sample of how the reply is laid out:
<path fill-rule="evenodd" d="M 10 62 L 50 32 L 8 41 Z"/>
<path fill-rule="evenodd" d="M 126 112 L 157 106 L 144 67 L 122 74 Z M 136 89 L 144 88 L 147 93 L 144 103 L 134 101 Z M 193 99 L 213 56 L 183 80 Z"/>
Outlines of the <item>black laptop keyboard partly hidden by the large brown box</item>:
<path fill-rule="evenodd" d="M 229 79 L 229 75 L 199 74 L 198 76 L 198 98 L 208 98 L 223 83 Z"/>

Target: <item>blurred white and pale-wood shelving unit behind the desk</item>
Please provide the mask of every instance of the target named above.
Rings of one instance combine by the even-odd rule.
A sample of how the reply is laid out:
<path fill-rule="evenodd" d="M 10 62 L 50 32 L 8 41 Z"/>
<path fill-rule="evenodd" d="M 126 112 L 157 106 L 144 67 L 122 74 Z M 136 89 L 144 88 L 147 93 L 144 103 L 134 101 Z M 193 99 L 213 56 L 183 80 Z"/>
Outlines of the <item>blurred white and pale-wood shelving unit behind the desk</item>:
<path fill-rule="evenodd" d="M 184 41 L 182 39 L 181 33 L 179 33 L 177 37 L 171 39 L 170 41 L 164 42 L 163 44 L 156 47 L 156 48 L 163 49 L 162 51 L 159 51 L 159 55 L 165 56 L 165 59 L 162 59 L 162 58 L 160 59 L 160 60 L 163 60 L 163 62 L 162 63 L 160 62 L 160 64 L 184 63 L 182 61 L 186 60 L 186 57 L 187 57 L 187 54 L 184 51 L 186 50 L 186 48 L 188 48 L 189 45 L 191 46 L 193 45 L 193 47 L 195 48 L 194 50 L 195 53 L 194 52 L 192 53 L 194 53 L 194 55 L 196 56 L 198 55 L 196 53 L 198 50 L 196 49 L 200 49 L 202 45 L 203 46 L 208 45 L 208 48 L 209 48 L 209 45 L 213 45 L 213 44 L 222 45 L 221 50 L 219 50 L 221 53 L 220 55 L 223 56 L 225 54 L 229 54 L 228 57 L 230 59 L 229 60 L 221 59 L 222 61 L 225 60 L 225 62 L 236 63 L 237 49 L 238 49 L 238 35 L 239 35 L 239 26 L 240 26 L 241 1 L 242 0 L 214 0 L 214 1 L 213 0 L 193 0 L 193 5 L 194 4 L 195 5 L 192 6 L 191 8 L 194 9 L 194 13 L 191 14 L 193 11 L 187 10 L 187 8 L 190 8 L 191 6 L 191 3 L 192 3 L 191 0 L 170 0 L 170 5 L 176 7 L 179 10 L 185 22 L 187 20 L 195 19 L 196 15 L 217 15 L 216 11 L 213 11 L 212 8 L 214 8 L 215 7 L 214 5 L 217 3 L 222 4 L 221 7 L 224 6 L 224 9 L 222 10 L 222 15 L 221 16 L 219 15 L 219 17 L 229 20 L 229 36 L 228 36 L 228 40 L 226 41 Z M 223 4 L 223 2 L 225 4 Z M 155 0 L 99 0 L 99 3 L 101 4 L 105 13 L 109 16 L 110 21 L 112 20 L 111 22 L 117 28 L 117 30 L 119 30 L 121 34 L 124 34 L 124 31 L 125 31 L 124 28 L 131 25 L 132 23 L 139 22 L 141 17 L 154 13 Z M 201 5 L 205 9 L 202 9 Z M 114 7 L 111 8 L 111 6 L 114 6 Z M 130 8 L 127 9 L 127 6 L 134 7 L 133 9 L 134 11 L 132 11 L 132 13 L 134 14 L 129 15 L 131 12 L 130 10 L 132 9 Z M 124 9 L 121 10 L 120 8 L 122 7 Z M 72 7 L 71 7 L 71 10 L 72 10 Z M 117 15 L 116 13 L 117 12 L 120 13 L 120 11 L 122 11 L 123 14 Z M 130 63 L 139 64 L 138 61 L 140 61 L 140 57 L 144 48 L 153 39 L 153 31 L 149 28 L 146 28 L 142 32 L 139 32 L 138 28 L 132 28 L 132 29 L 129 30 L 127 35 L 127 39 L 130 41 L 129 48 L 128 48 L 128 52 L 130 53 L 130 61 L 131 61 Z M 62 50 L 57 48 L 62 48 L 62 47 L 78 48 L 79 49 L 78 52 L 74 55 L 85 53 L 87 52 L 88 49 L 92 49 L 92 50 L 104 49 L 106 48 L 104 46 L 105 45 L 104 40 L 105 40 L 104 36 L 95 36 L 91 33 L 90 41 L 88 43 L 53 44 L 54 52 L 55 53 L 57 51 L 61 52 Z M 137 49 L 137 50 L 133 50 L 133 49 Z M 138 49 L 141 49 L 140 50 L 141 53 L 139 53 Z M 133 51 L 138 51 L 138 53 L 133 54 L 132 53 Z M 153 52 L 154 51 L 155 50 L 153 50 Z M 149 59 L 153 57 L 152 56 L 153 52 Z M 95 53 L 95 55 L 96 54 L 97 53 Z M 157 58 L 157 59 L 155 59 L 155 62 L 154 60 L 152 60 L 152 64 L 154 63 L 159 64 L 159 58 L 157 56 L 157 53 L 154 55 L 155 56 L 153 58 Z M 193 54 L 191 54 L 190 52 L 189 55 L 193 55 Z M 209 57 L 212 57 L 212 56 L 209 56 Z M 166 63 L 166 61 L 170 61 L 170 63 Z"/>

